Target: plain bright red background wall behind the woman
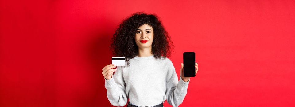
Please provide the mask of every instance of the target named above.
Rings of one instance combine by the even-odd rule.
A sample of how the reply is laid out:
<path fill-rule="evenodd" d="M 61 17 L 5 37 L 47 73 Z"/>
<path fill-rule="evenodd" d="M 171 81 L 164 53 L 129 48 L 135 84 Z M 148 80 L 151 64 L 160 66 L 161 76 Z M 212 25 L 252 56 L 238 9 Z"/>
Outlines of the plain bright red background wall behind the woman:
<path fill-rule="evenodd" d="M 116 28 L 138 11 L 162 20 L 178 76 L 183 52 L 196 52 L 180 107 L 295 106 L 293 0 L 2 0 L 0 106 L 112 106 L 101 69 Z"/>

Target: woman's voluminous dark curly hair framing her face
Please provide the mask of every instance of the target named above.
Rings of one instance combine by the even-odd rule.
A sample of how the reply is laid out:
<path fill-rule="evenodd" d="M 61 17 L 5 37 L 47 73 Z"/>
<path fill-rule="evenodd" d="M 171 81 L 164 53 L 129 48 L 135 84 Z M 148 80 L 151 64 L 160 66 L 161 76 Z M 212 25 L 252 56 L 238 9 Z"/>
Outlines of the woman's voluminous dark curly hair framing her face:
<path fill-rule="evenodd" d="M 115 57 L 126 58 L 128 66 L 129 60 L 138 54 L 138 46 L 135 43 L 134 36 L 136 29 L 143 24 L 148 24 L 153 28 L 152 53 L 155 58 L 160 59 L 163 56 L 166 59 L 171 55 L 171 48 L 174 49 L 173 42 L 170 40 L 171 37 L 168 36 L 157 15 L 143 12 L 133 13 L 119 25 L 111 39 L 112 43 L 110 46 L 110 50 Z"/>

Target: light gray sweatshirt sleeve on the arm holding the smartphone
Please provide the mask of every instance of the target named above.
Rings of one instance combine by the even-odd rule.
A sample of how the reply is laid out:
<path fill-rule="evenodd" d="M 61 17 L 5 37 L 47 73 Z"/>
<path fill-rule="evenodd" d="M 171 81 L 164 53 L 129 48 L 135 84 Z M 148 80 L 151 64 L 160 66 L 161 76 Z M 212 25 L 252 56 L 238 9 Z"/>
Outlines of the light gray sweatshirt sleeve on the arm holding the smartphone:
<path fill-rule="evenodd" d="M 168 72 L 166 76 L 166 99 L 167 102 L 173 107 L 179 106 L 187 93 L 188 82 L 184 82 L 181 77 L 179 77 L 179 81 L 177 79 L 177 74 L 175 72 L 175 68 L 170 61 L 168 64 Z"/>

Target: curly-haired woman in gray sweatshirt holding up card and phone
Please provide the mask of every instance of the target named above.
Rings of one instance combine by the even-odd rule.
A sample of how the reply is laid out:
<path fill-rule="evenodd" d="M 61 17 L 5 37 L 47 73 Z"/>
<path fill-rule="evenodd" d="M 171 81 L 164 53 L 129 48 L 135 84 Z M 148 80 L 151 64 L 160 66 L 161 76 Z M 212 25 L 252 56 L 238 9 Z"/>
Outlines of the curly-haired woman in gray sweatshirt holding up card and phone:
<path fill-rule="evenodd" d="M 169 60 L 173 46 L 156 15 L 134 13 L 120 24 L 112 38 L 111 49 L 116 57 L 126 57 L 126 66 L 110 64 L 102 69 L 107 98 L 114 106 L 163 107 L 167 102 L 179 106 L 186 93 L 190 77 L 180 80 Z M 196 73 L 198 71 L 196 63 Z M 114 69 L 116 68 L 116 69 Z M 116 71 L 116 72 L 115 72 Z M 115 72 L 115 74 L 113 74 Z"/>

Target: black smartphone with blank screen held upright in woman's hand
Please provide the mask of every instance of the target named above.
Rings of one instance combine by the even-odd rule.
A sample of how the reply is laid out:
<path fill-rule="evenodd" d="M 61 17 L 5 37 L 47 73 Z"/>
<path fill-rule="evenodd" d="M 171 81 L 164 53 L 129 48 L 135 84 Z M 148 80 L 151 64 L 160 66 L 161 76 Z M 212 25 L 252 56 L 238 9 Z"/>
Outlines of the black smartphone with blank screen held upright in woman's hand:
<path fill-rule="evenodd" d="M 184 77 L 195 77 L 195 52 L 183 53 L 183 75 Z"/>

